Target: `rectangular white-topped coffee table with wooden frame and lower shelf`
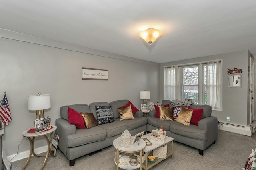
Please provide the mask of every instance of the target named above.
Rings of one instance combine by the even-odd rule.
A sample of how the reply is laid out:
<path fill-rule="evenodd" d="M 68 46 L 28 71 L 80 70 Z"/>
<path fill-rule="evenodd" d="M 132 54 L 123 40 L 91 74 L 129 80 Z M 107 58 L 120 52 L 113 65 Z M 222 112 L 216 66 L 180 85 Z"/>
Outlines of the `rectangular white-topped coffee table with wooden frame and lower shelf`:
<path fill-rule="evenodd" d="M 172 160 L 173 160 L 173 140 L 174 139 L 171 138 L 171 137 L 166 136 L 164 143 L 163 142 L 158 142 L 158 141 L 153 141 L 153 140 L 150 140 L 150 134 L 151 133 L 142 136 L 142 138 L 147 138 L 152 143 L 152 145 L 146 146 L 142 150 L 145 153 L 145 161 L 142 164 L 142 168 L 144 170 L 148 170 L 148 169 L 152 168 L 153 166 L 155 166 L 156 164 L 165 160 L 164 158 L 157 158 L 156 157 L 156 159 L 155 159 L 156 162 L 154 162 L 154 163 L 148 162 L 148 156 L 149 156 L 150 152 L 155 150 L 155 149 L 158 149 L 158 148 L 162 147 L 163 145 L 168 145 L 166 158 L 172 156 Z"/>

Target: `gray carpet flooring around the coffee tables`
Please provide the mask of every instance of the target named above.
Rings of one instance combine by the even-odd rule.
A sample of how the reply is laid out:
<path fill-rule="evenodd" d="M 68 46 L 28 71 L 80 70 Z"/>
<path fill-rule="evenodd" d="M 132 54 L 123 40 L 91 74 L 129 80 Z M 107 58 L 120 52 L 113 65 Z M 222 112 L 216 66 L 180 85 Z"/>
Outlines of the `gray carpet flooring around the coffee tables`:
<path fill-rule="evenodd" d="M 218 140 L 210 145 L 204 156 L 198 150 L 174 141 L 174 159 L 171 157 L 160 162 L 150 170 L 242 170 L 256 145 L 256 135 L 252 137 L 218 131 Z M 113 146 L 102 149 L 92 156 L 85 155 L 69 166 L 68 159 L 57 150 L 56 157 L 49 157 L 45 170 L 114 170 L 115 149 Z M 12 162 L 12 170 L 21 170 L 27 159 Z M 40 170 L 44 157 L 32 156 L 26 170 Z M 120 168 L 120 170 L 122 170 Z"/>

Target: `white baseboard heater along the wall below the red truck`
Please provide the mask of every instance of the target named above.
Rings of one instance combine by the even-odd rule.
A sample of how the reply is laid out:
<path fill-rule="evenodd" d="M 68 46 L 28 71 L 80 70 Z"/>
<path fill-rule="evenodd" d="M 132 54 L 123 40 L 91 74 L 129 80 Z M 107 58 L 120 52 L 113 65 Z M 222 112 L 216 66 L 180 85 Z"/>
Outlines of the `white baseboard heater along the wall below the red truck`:
<path fill-rule="evenodd" d="M 235 125 L 231 123 L 223 123 L 223 126 L 220 126 L 220 130 L 222 131 L 228 131 L 232 133 L 238 133 L 240 135 L 246 135 L 246 136 L 252 136 L 253 133 L 253 127 L 252 124 L 250 125 Z"/>

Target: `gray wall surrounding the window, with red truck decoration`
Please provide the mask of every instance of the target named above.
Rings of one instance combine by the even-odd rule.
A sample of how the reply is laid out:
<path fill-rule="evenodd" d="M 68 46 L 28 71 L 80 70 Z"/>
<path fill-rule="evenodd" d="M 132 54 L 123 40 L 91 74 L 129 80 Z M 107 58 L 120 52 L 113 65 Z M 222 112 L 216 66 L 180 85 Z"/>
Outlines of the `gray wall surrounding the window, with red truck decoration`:
<path fill-rule="evenodd" d="M 215 59 L 222 59 L 222 111 L 212 111 L 212 115 L 218 117 L 219 121 L 227 122 L 226 117 L 230 117 L 232 124 L 248 125 L 249 108 L 247 107 L 247 85 L 248 85 L 248 56 L 249 51 L 238 51 L 233 53 L 225 53 L 219 55 L 211 55 L 207 57 L 199 57 L 196 59 L 188 59 L 182 61 L 175 61 L 169 63 L 162 63 L 160 65 L 160 92 L 161 100 L 163 99 L 163 82 L 164 82 L 164 66 L 199 63 L 204 61 L 211 61 Z M 227 68 L 242 69 L 242 87 L 228 88 L 228 74 Z"/>

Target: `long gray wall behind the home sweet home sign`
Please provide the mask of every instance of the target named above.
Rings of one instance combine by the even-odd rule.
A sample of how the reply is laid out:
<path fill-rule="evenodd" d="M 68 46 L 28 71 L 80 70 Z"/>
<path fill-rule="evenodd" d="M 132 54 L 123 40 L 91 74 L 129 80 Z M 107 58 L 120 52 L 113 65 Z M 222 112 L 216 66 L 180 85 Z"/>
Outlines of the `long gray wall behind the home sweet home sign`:
<path fill-rule="evenodd" d="M 0 37 L 0 95 L 6 91 L 12 114 L 2 137 L 7 155 L 16 154 L 22 132 L 34 127 L 35 111 L 28 111 L 29 95 L 51 95 L 52 107 L 44 115 L 51 117 L 52 125 L 63 105 L 128 99 L 140 108 L 140 90 L 149 90 L 150 101 L 159 102 L 159 63 L 5 30 L 0 30 Z M 107 69 L 109 80 L 82 80 L 82 67 Z M 36 139 L 35 148 L 45 145 L 43 137 Z M 18 152 L 29 149 L 25 138 Z"/>

